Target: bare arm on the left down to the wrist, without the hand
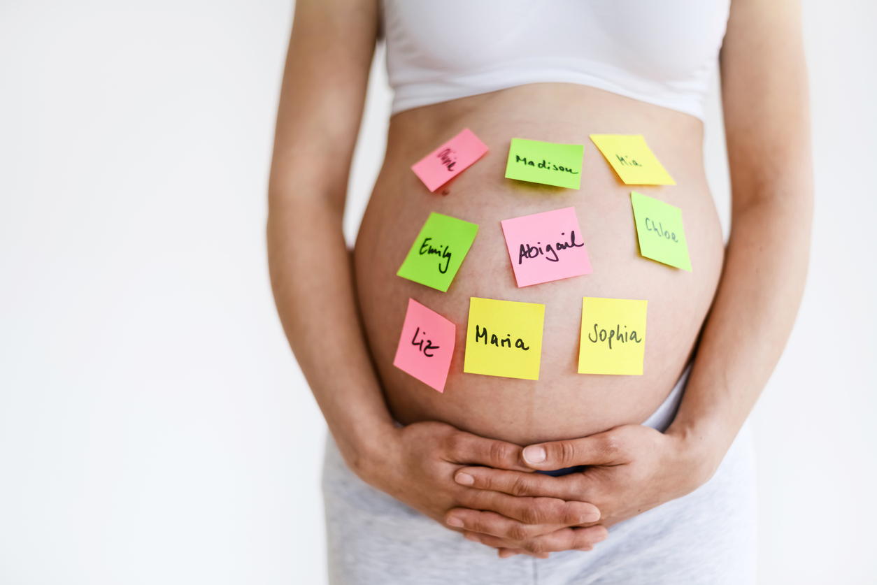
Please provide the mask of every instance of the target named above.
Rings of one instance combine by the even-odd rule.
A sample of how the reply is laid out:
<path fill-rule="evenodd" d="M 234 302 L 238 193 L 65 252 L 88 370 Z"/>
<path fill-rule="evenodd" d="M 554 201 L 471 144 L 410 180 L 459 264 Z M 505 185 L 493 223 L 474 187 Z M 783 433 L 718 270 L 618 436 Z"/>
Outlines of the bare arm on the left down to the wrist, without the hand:
<path fill-rule="evenodd" d="M 377 30 L 374 0 L 296 2 L 268 185 L 277 310 L 354 471 L 393 428 L 357 315 L 341 229 Z"/>

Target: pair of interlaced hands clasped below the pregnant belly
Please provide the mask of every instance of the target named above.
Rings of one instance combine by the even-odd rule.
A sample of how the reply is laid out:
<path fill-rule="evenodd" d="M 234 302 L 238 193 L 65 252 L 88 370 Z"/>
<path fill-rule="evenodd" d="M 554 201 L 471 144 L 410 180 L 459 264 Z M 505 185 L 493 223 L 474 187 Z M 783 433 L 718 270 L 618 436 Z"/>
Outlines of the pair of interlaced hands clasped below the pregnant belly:
<path fill-rule="evenodd" d="M 503 558 L 591 550 L 612 524 L 711 474 L 683 439 L 638 424 L 522 448 L 424 422 L 397 429 L 389 445 L 363 479 Z M 533 473 L 580 465 L 560 477 Z"/>

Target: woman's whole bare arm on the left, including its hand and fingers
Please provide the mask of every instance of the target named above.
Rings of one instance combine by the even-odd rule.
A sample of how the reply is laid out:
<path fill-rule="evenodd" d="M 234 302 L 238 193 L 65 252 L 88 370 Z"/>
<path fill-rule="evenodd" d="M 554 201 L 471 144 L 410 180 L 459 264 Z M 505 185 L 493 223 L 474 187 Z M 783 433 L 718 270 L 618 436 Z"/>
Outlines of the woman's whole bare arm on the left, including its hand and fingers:
<path fill-rule="evenodd" d="M 375 0 L 299 0 L 268 188 L 268 264 L 289 345 L 354 473 L 439 522 L 467 505 L 545 523 L 594 506 L 465 488 L 456 469 L 530 471 L 521 447 L 426 422 L 396 429 L 357 314 L 341 222 L 378 30 Z M 605 531 L 595 530 L 592 541 Z"/>

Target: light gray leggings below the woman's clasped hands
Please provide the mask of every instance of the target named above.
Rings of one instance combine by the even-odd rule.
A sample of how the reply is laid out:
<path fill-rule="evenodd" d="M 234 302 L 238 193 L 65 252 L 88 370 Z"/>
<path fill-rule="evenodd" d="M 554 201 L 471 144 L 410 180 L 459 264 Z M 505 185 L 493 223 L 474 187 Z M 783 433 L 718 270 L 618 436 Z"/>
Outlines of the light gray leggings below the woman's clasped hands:
<path fill-rule="evenodd" d="M 659 417 L 663 420 L 655 428 L 667 428 L 684 382 L 662 405 L 669 417 Z M 609 538 L 589 553 L 552 553 L 545 560 L 524 555 L 500 559 L 495 549 L 464 539 L 362 482 L 346 466 L 331 435 L 326 442 L 323 494 L 332 585 L 749 585 L 756 581 L 754 456 L 748 424 L 709 482 L 688 496 L 616 524 Z"/>

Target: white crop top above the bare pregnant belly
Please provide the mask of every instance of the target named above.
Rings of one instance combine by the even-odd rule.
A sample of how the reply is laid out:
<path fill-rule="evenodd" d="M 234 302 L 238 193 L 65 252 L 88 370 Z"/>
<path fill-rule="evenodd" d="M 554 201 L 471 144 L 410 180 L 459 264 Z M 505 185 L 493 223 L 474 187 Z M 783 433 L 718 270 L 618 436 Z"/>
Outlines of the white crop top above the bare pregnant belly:
<path fill-rule="evenodd" d="M 393 113 L 538 82 L 703 118 L 731 0 L 383 0 Z"/>

